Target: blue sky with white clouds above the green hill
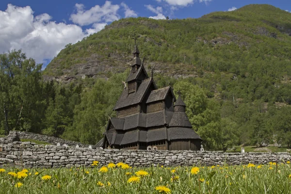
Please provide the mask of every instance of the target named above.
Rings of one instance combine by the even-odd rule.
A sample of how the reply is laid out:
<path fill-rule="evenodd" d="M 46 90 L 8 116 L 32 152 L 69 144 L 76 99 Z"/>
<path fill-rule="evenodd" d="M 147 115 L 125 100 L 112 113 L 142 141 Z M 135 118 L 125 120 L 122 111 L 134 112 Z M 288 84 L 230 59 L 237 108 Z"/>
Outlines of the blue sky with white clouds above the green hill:
<path fill-rule="evenodd" d="M 248 4 L 291 11 L 291 0 L 0 0 L 0 53 L 22 49 L 45 68 L 65 45 L 121 18 L 199 18 Z"/>

